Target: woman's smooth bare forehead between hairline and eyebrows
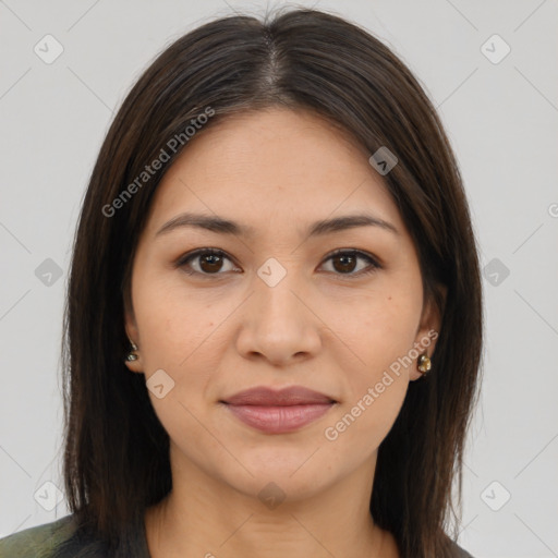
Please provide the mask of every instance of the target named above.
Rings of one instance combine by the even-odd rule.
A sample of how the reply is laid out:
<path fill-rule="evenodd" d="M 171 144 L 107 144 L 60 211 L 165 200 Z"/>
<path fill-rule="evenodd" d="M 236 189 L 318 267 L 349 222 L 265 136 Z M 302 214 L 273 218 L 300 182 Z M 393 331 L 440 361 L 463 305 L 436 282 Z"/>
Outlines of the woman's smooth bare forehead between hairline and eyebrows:
<path fill-rule="evenodd" d="M 401 226 L 368 157 L 349 133 L 308 112 L 274 108 L 227 117 L 194 136 L 167 171 L 148 232 L 192 210 L 252 230 L 366 209 Z"/>

